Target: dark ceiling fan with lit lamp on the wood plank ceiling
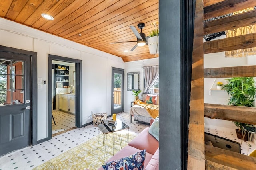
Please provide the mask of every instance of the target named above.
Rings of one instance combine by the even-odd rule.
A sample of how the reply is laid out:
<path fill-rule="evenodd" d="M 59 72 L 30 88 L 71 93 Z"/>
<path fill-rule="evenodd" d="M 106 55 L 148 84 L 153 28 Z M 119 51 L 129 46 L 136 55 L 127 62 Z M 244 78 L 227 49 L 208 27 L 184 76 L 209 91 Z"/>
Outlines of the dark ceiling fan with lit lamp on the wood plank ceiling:
<path fill-rule="evenodd" d="M 142 33 L 142 29 L 145 27 L 145 23 L 139 23 L 138 28 L 140 29 L 140 33 L 137 31 L 136 27 L 130 26 L 130 29 L 132 29 L 133 33 L 137 37 L 137 41 L 123 41 L 123 42 L 114 42 L 110 44 L 115 44 L 115 43 L 130 43 L 130 42 L 137 42 L 137 44 L 132 47 L 130 51 L 133 51 L 137 46 L 144 46 L 145 44 L 148 44 L 148 37 L 144 33 Z"/>

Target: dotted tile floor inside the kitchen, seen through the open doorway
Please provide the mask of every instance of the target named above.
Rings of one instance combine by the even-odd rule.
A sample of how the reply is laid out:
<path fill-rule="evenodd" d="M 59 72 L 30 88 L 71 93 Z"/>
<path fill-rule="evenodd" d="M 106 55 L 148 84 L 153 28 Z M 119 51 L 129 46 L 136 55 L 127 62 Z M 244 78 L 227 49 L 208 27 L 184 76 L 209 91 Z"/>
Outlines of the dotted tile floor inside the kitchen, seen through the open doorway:
<path fill-rule="evenodd" d="M 56 123 L 56 125 L 54 125 L 54 121 L 52 119 L 52 134 L 65 131 L 76 126 L 76 116 L 74 114 L 63 111 L 53 111 L 52 115 Z"/>

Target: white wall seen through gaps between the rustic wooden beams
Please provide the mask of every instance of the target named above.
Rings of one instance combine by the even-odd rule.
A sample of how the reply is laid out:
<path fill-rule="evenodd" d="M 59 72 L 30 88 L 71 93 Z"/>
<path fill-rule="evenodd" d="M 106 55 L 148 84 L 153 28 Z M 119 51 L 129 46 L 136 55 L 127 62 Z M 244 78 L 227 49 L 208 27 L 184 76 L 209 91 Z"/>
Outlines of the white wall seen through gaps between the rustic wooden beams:
<path fill-rule="evenodd" d="M 239 58 L 226 58 L 224 52 L 205 54 L 204 55 L 204 68 L 218 68 L 218 67 L 232 67 L 232 66 L 246 66 L 256 65 L 256 56 L 239 57 Z M 224 90 L 209 90 L 216 89 L 216 82 L 221 81 L 225 84 L 225 78 L 204 78 L 204 103 L 210 104 L 227 104 L 228 93 Z M 204 118 L 205 127 L 226 127 L 235 129 L 236 126 L 232 121 L 218 120 Z"/>

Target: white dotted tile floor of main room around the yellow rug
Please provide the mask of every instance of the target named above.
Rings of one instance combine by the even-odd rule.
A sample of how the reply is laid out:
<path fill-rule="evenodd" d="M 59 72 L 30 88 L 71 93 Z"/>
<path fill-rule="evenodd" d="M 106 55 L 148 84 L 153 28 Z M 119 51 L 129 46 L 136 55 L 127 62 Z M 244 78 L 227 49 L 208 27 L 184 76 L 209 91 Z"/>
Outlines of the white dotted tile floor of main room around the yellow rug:
<path fill-rule="evenodd" d="M 108 118 L 111 119 L 112 117 Z M 148 125 L 130 123 L 128 113 L 118 113 L 117 118 L 130 126 L 129 132 L 138 134 Z M 54 117 L 55 119 L 55 117 Z M 53 122 L 53 121 L 52 121 Z M 0 170 L 31 170 L 44 162 L 88 141 L 97 136 L 98 128 L 93 124 L 72 129 L 52 137 L 50 141 L 29 146 L 0 157 Z"/>

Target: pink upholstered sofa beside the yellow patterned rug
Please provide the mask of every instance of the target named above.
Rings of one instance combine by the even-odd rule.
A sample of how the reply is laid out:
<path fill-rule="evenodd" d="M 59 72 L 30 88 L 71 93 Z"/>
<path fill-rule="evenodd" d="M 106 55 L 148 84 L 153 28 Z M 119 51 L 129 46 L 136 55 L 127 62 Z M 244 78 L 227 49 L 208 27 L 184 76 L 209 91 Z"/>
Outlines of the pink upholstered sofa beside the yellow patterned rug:
<path fill-rule="evenodd" d="M 154 119 L 152 119 L 154 121 Z M 152 121 L 150 123 L 152 123 Z M 106 162 L 130 156 L 136 152 L 146 149 L 144 170 L 159 170 L 159 142 L 148 133 L 149 127 L 145 128 L 126 147 L 117 152 Z M 104 170 L 102 166 L 98 170 Z"/>

